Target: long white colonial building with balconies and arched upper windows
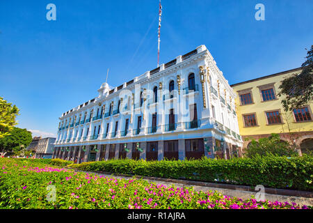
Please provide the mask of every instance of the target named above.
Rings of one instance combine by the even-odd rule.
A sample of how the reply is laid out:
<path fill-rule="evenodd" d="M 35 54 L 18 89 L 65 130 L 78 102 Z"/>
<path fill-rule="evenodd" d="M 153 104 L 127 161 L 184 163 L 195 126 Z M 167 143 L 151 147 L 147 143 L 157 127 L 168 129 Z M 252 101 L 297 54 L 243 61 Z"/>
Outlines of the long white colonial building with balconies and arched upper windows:
<path fill-rule="evenodd" d="M 98 93 L 59 118 L 54 158 L 241 156 L 236 94 L 204 45 Z"/>

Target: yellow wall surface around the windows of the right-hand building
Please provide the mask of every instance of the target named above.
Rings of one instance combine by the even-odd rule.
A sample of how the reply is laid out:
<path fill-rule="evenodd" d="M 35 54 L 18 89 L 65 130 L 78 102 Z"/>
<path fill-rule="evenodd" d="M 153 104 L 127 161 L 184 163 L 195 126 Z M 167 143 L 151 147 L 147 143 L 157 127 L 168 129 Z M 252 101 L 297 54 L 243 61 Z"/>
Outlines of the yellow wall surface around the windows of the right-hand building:
<path fill-rule="evenodd" d="M 257 86 L 262 86 L 264 84 L 270 84 L 274 83 L 275 87 L 275 93 L 277 94 L 280 89 L 278 87 L 280 86 L 280 83 L 282 79 L 285 77 L 289 77 L 290 75 L 293 75 L 295 73 L 300 73 L 300 69 L 298 70 L 291 70 L 290 72 L 284 72 L 280 75 L 275 75 L 273 77 L 266 77 L 264 79 L 258 79 L 252 82 L 243 83 L 239 85 L 234 85 L 232 88 L 234 89 L 234 92 L 236 93 L 236 113 L 238 117 L 238 123 L 239 123 L 239 131 L 240 134 L 245 135 L 258 135 L 258 134 L 271 134 L 271 133 L 284 133 L 289 132 L 289 128 L 291 132 L 303 132 L 303 131 L 312 131 L 313 129 L 313 122 L 307 121 L 302 123 L 296 123 L 294 120 L 294 115 L 292 112 L 284 112 L 284 109 L 282 108 L 281 99 L 278 98 L 276 95 L 277 100 L 270 100 L 266 102 L 262 102 L 262 95 L 260 94 L 259 88 Z M 253 104 L 250 105 L 241 105 L 239 93 L 237 91 L 243 90 L 243 89 L 249 89 L 251 88 L 252 91 L 252 100 Z M 276 125 L 267 125 L 266 123 L 266 114 L 265 111 L 271 111 L 275 109 L 280 109 L 280 112 L 282 113 L 282 121 L 283 124 L 276 124 Z M 313 103 L 309 105 L 309 110 L 312 116 L 312 109 L 313 109 Z M 257 125 L 255 127 L 245 127 L 243 124 L 243 116 L 242 114 L 250 114 L 250 113 L 256 113 L 257 118 Z M 289 124 L 289 128 L 288 125 Z"/>

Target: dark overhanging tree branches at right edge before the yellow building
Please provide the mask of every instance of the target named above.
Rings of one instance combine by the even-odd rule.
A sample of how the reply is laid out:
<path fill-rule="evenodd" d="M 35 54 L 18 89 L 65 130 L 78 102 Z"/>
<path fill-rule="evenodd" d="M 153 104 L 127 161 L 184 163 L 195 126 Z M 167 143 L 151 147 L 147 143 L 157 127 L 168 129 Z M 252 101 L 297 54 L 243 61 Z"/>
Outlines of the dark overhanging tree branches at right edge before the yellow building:
<path fill-rule="evenodd" d="M 305 58 L 307 60 L 301 65 L 303 70 L 300 74 L 285 78 L 279 86 L 281 90 L 278 95 L 285 96 L 282 100 L 285 112 L 313 101 L 313 45 Z"/>

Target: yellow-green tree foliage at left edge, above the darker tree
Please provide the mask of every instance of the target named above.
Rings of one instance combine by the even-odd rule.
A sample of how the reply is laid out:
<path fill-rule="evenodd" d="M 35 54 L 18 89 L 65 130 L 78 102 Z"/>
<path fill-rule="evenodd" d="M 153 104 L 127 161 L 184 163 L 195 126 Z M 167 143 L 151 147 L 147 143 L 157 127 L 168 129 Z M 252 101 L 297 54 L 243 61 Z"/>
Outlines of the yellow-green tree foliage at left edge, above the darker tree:
<path fill-rule="evenodd" d="M 0 97 L 0 139 L 8 136 L 13 126 L 17 125 L 15 118 L 18 114 L 19 109 L 15 105 Z"/>

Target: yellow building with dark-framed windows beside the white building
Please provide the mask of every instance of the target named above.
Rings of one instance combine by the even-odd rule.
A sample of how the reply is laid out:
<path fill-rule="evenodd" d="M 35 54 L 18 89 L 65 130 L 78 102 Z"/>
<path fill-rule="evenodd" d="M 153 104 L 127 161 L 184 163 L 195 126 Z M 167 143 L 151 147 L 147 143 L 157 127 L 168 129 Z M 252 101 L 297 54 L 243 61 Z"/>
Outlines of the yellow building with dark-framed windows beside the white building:
<path fill-rule="evenodd" d="M 278 92 L 282 80 L 299 74 L 301 68 L 232 84 L 236 97 L 239 132 L 243 139 L 259 139 L 271 133 L 298 148 L 299 153 L 313 149 L 313 104 L 284 112 Z M 246 148 L 251 140 L 244 141 Z"/>

